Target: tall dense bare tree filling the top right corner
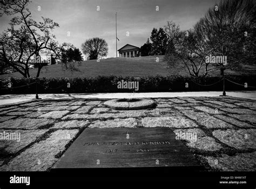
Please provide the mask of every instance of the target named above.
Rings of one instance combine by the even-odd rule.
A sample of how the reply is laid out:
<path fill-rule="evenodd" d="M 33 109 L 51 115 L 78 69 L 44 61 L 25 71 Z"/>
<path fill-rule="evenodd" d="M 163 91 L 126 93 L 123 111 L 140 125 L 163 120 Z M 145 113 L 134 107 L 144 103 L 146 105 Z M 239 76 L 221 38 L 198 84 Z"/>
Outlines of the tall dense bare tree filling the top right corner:
<path fill-rule="evenodd" d="M 221 1 L 194 26 L 214 55 L 227 56 L 230 69 L 255 61 L 256 12 L 251 0 Z"/>

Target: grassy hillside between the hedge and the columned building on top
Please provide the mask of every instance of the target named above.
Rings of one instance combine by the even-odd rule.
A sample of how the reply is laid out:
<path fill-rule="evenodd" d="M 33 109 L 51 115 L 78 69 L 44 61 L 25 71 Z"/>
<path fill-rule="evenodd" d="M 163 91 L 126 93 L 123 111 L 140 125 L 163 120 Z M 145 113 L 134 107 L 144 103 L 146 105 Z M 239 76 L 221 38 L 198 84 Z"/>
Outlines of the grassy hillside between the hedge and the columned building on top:
<path fill-rule="evenodd" d="M 156 62 L 156 57 L 159 57 L 159 62 Z M 188 75 L 188 71 L 180 69 L 182 63 L 173 65 L 171 69 L 167 69 L 167 63 L 163 60 L 164 56 L 147 56 L 134 58 L 107 58 L 100 62 L 96 60 L 87 60 L 76 66 L 78 71 L 70 71 L 62 68 L 62 65 L 45 66 L 40 73 L 40 77 L 96 77 L 96 76 L 167 76 L 172 74 Z M 31 69 L 31 77 L 35 77 L 37 69 Z M 242 73 L 256 73 L 255 66 L 244 66 L 240 71 L 226 70 L 226 74 L 240 75 Z M 219 76 L 220 71 L 212 72 L 211 75 Z M 18 72 L 1 75 L 0 77 L 22 77 Z"/>

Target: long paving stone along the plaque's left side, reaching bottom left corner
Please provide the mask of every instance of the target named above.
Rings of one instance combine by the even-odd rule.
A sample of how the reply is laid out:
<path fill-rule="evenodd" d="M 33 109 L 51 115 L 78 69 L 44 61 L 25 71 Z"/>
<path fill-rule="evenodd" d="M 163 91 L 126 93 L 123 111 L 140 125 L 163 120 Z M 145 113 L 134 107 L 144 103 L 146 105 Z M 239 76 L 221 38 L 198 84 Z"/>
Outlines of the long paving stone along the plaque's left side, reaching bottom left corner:
<path fill-rule="evenodd" d="M 58 130 L 33 144 L 29 149 L 0 167 L 0 171 L 46 171 L 57 161 L 55 157 L 65 150 L 65 145 L 72 140 L 78 130 Z"/>

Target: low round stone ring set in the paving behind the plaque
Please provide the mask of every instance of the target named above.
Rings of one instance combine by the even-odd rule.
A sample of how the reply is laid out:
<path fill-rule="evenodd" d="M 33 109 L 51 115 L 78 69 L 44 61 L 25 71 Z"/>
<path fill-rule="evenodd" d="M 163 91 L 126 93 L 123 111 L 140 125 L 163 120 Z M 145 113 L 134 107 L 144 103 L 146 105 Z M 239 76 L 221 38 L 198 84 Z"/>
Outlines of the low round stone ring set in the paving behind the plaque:
<path fill-rule="evenodd" d="M 139 98 L 122 98 L 108 100 L 104 103 L 107 107 L 114 110 L 142 110 L 154 107 L 156 104 L 151 99 L 139 99 Z"/>

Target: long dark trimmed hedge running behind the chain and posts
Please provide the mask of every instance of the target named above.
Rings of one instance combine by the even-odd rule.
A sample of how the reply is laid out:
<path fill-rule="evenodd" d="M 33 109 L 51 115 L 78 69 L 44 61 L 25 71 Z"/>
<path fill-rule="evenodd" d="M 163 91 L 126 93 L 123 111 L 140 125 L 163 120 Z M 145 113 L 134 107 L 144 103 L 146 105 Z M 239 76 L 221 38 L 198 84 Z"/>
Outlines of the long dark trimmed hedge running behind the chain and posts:
<path fill-rule="evenodd" d="M 172 75 L 149 76 L 141 78 L 121 76 L 98 76 L 89 78 L 0 78 L 1 95 L 36 93 L 97 93 L 97 92 L 132 92 L 131 89 L 118 89 L 117 82 L 121 80 L 139 82 L 139 91 L 136 92 L 185 92 L 185 91 L 221 91 L 223 81 L 221 77 L 199 77 L 196 80 L 188 76 Z M 237 85 L 225 81 L 226 91 L 255 90 L 253 86 L 256 76 L 229 75 L 226 79 L 239 83 Z M 37 82 L 37 84 L 36 84 Z M 70 83 L 70 87 L 68 87 Z M 186 83 L 188 87 L 186 87 Z M 214 84 L 215 83 L 215 84 Z M 213 84 L 213 85 L 210 85 Z M 208 85 L 208 86 L 201 86 Z M 11 86 L 11 87 L 9 87 Z"/>

